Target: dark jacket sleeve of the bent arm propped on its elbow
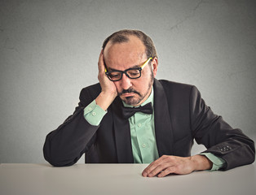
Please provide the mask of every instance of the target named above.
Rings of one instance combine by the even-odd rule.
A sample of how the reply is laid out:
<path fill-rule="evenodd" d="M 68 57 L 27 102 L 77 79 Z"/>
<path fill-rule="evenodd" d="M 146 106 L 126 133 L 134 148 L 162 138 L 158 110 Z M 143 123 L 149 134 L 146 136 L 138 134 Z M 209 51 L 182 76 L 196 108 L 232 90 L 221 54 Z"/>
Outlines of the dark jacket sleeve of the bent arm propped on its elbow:
<path fill-rule="evenodd" d="M 90 125 L 84 118 L 84 108 L 95 99 L 90 88 L 82 89 L 80 102 L 73 115 L 59 128 L 46 136 L 43 146 L 44 158 L 55 167 L 71 166 L 77 163 L 95 141 L 99 126 Z"/>

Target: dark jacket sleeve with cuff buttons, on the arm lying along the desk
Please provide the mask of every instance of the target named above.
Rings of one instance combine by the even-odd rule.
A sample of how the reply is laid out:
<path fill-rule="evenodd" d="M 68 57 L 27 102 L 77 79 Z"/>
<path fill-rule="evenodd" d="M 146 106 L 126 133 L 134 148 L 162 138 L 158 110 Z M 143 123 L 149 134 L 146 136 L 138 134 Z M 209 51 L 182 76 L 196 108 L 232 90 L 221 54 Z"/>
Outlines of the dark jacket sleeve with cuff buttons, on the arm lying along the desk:
<path fill-rule="evenodd" d="M 232 128 L 221 116 L 214 115 L 194 86 L 190 95 L 190 112 L 196 142 L 205 145 L 207 150 L 204 153 L 212 153 L 226 161 L 223 170 L 254 163 L 254 141 L 241 129 Z"/>

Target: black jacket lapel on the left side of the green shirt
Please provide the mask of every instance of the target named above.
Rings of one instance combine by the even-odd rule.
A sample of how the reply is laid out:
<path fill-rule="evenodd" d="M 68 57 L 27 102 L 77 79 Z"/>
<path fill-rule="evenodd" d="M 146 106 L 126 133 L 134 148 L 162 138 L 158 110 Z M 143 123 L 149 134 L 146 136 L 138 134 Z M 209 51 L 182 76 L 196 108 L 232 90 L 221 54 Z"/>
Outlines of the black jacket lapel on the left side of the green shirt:
<path fill-rule="evenodd" d="M 130 141 L 130 124 L 128 119 L 123 119 L 121 106 L 121 99 L 117 97 L 112 104 L 117 160 L 118 163 L 134 163 Z"/>

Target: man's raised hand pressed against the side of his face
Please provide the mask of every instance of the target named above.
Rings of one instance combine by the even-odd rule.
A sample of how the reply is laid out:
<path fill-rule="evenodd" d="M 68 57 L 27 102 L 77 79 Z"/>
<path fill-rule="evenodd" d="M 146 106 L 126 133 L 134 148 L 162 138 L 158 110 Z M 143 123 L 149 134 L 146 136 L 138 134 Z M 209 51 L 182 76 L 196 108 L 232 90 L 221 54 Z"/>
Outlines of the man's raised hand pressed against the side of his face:
<path fill-rule="evenodd" d="M 110 106 L 113 100 L 117 97 L 117 88 L 113 81 L 109 80 L 108 76 L 105 74 L 103 50 L 101 50 L 99 54 L 98 68 L 98 80 L 101 86 L 101 93 L 99 93 L 99 96 L 95 99 L 95 101 L 97 105 L 106 111 L 108 106 Z"/>

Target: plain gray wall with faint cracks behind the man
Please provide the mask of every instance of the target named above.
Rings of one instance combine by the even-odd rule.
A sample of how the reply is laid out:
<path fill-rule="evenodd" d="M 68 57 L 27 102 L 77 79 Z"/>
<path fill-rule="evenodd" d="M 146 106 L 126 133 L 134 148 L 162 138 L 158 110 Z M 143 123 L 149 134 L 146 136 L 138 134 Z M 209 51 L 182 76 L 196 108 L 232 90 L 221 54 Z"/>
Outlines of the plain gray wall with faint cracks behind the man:
<path fill-rule="evenodd" d="M 158 79 L 196 85 L 255 137 L 256 1 L 0 0 L 0 163 L 45 162 L 46 134 L 98 81 L 101 44 L 121 28 L 152 37 Z"/>

